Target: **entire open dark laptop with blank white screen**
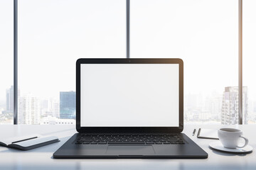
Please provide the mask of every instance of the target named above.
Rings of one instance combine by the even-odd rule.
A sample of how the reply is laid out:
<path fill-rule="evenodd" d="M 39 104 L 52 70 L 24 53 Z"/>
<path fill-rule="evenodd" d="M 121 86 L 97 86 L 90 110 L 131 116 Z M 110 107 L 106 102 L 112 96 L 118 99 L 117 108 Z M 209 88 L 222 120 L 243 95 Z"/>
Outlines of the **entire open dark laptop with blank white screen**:
<path fill-rule="evenodd" d="M 181 59 L 79 59 L 76 130 L 53 158 L 208 157 L 182 133 Z"/>

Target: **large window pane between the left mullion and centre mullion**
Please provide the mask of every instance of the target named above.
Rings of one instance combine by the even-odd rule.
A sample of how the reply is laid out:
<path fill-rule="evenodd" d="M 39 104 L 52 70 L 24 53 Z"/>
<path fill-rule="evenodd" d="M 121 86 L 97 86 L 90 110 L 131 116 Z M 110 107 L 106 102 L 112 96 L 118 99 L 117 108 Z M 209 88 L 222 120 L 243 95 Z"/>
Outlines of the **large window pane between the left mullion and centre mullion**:
<path fill-rule="evenodd" d="M 18 3 L 21 124 L 75 123 L 78 58 L 124 58 L 125 1 Z"/>

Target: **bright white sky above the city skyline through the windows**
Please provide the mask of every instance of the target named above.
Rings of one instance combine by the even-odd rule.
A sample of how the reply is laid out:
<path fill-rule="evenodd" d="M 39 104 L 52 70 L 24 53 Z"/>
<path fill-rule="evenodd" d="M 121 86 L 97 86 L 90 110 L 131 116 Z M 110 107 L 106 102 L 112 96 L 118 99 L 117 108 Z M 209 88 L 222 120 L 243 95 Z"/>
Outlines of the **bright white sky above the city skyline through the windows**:
<path fill-rule="evenodd" d="M 0 1 L 0 101 L 13 83 L 13 1 Z M 221 5 L 220 5 L 221 4 Z M 244 1 L 244 85 L 256 96 L 256 1 Z M 75 91 L 75 61 L 125 57 L 125 0 L 18 1 L 21 94 Z M 238 86 L 238 2 L 131 0 L 131 57 L 181 58 L 185 94 Z"/>

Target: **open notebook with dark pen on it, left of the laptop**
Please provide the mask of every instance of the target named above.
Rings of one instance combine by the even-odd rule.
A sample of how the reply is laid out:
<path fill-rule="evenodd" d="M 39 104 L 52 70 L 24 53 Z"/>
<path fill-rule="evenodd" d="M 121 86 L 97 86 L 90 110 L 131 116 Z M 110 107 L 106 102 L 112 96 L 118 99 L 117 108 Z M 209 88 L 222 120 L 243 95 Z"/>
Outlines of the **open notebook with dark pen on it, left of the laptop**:
<path fill-rule="evenodd" d="M 0 140 L 0 145 L 4 147 L 11 147 L 14 149 L 30 150 L 37 147 L 43 147 L 55 142 L 59 142 L 58 137 L 43 136 L 38 134 L 26 135 L 20 137 L 12 137 Z"/>

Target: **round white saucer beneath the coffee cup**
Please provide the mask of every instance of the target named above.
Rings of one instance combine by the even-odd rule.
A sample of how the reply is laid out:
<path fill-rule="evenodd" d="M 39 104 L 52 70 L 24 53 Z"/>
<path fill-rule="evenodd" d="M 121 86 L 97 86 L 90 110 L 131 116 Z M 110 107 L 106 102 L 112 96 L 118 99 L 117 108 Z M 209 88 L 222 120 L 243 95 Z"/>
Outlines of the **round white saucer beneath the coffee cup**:
<path fill-rule="evenodd" d="M 242 148 L 235 148 L 235 149 L 226 148 L 226 147 L 223 147 L 223 145 L 219 140 L 216 142 L 211 142 L 209 146 L 213 149 L 217 149 L 225 152 L 245 153 L 245 152 L 252 151 L 252 147 L 250 145 L 247 145 L 246 147 L 242 147 Z"/>

